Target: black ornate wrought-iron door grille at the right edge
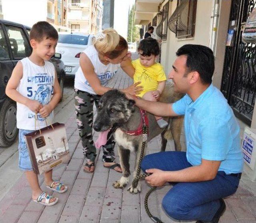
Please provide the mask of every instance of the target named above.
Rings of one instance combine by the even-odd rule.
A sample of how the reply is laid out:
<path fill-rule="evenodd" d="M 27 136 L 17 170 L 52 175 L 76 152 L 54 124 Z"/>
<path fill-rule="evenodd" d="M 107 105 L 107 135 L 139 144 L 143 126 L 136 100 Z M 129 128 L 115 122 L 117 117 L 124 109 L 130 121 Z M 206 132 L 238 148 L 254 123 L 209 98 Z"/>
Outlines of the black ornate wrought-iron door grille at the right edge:
<path fill-rule="evenodd" d="M 256 0 L 232 1 L 230 21 L 236 22 L 234 45 L 227 46 L 221 91 L 236 116 L 250 125 L 256 96 L 256 44 L 241 41 L 243 26 Z"/>

